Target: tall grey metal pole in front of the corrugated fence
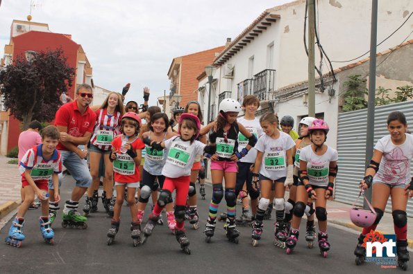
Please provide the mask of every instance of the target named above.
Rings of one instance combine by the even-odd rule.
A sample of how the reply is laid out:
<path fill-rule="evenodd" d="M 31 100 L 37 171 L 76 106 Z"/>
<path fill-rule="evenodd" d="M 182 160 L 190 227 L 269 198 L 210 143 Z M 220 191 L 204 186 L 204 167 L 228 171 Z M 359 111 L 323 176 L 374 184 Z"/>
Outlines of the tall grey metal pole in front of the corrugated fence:
<path fill-rule="evenodd" d="M 372 0 L 371 32 L 370 32 L 370 64 L 369 64 L 369 99 L 367 101 L 367 135 L 366 135 L 366 168 L 373 157 L 374 146 L 374 97 L 376 96 L 376 51 L 377 51 L 377 2 Z M 371 201 L 371 188 L 365 192 L 366 198 Z M 368 209 L 366 201 L 364 208 Z"/>

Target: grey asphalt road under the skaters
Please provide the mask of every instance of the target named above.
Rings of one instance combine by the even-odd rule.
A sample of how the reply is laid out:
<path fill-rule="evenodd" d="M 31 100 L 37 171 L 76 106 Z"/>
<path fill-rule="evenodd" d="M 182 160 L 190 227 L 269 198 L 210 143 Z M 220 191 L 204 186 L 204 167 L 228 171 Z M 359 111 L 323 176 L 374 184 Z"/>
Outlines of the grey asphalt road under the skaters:
<path fill-rule="evenodd" d="M 62 183 L 62 199 L 67 199 L 74 185 L 70 176 Z M 121 226 L 114 244 L 106 245 L 106 232 L 110 217 L 103 211 L 91 214 L 86 230 L 62 228 L 61 212 L 53 223 L 55 246 L 47 245 L 40 234 L 40 209 L 29 210 L 26 215 L 22 248 L 0 244 L 0 273 L 390 273 L 401 269 L 384 269 L 369 262 L 355 266 L 353 250 L 357 241 L 355 232 L 347 228 L 330 226 L 332 245 L 328 258 L 321 257 L 318 245 L 308 249 L 305 222 L 302 235 L 293 255 L 273 246 L 273 221 L 264 221 L 264 233 L 258 247 L 251 245 L 251 228 L 239 228 L 239 244 L 230 243 L 223 223 L 217 223 L 215 236 L 205 243 L 203 230 L 208 217 L 208 203 L 212 188 L 206 187 L 207 199 L 199 199 L 201 228 L 193 230 L 187 223 L 187 237 L 191 241 L 192 255 L 186 255 L 174 235 L 164 226 L 157 226 L 143 246 L 133 247 L 130 238 L 130 211 L 122 207 Z M 219 212 L 225 210 L 225 200 Z M 85 203 L 81 200 L 80 210 Z M 62 204 L 61 204 L 62 206 Z M 237 205 L 238 212 L 241 207 Z M 150 206 L 148 206 L 148 209 Z M 149 215 L 146 210 L 144 221 Z M 275 212 L 273 213 L 275 217 Z M 166 218 L 164 216 L 166 221 Z M 6 237 L 10 221 L 0 230 Z M 412 266 L 413 267 L 413 266 Z"/>

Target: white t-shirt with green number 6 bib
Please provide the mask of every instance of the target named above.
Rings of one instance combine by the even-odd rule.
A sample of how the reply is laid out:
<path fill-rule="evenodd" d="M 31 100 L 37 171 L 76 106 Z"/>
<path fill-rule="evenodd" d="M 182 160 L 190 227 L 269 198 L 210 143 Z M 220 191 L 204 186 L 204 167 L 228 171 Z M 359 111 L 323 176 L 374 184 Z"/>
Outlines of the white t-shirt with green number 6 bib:
<path fill-rule="evenodd" d="M 203 154 L 205 144 L 194 140 L 184 141 L 180 137 L 170 138 L 165 141 L 167 161 L 162 168 L 162 175 L 169 178 L 189 176 L 196 155 Z"/>

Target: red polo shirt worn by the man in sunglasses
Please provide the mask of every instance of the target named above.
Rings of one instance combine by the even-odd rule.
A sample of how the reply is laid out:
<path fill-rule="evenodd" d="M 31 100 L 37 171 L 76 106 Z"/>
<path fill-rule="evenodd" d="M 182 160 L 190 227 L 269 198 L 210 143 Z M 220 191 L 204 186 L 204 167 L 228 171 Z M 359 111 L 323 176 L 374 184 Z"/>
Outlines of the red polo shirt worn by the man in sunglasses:
<path fill-rule="evenodd" d="M 86 132 L 93 132 L 96 114 L 87 107 L 85 113 L 81 114 L 76 100 L 71 103 L 63 104 L 56 112 L 55 125 L 67 127 L 67 134 L 74 137 L 83 137 Z M 56 147 L 59 150 L 69 150 L 59 142 Z"/>

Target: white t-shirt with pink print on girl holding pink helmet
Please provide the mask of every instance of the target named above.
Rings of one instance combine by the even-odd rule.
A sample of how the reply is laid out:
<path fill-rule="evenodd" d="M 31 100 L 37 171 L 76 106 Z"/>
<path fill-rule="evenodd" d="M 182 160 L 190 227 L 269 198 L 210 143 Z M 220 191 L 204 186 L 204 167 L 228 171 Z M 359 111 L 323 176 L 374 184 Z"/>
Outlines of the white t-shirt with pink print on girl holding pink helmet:
<path fill-rule="evenodd" d="M 376 147 L 383 153 L 378 172 L 373 182 L 389 183 L 390 185 L 401 185 L 410 183 L 410 161 L 413 156 L 413 136 L 406 134 L 405 143 L 394 145 L 390 135 L 377 141 Z"/>

